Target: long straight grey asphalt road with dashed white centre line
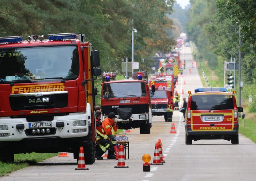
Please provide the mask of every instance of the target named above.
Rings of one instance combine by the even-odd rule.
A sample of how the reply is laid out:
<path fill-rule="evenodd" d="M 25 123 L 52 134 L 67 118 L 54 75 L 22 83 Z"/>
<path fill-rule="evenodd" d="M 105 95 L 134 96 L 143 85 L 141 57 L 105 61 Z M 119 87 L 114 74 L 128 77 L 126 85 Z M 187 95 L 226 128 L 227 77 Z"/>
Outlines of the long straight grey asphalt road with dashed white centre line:
<path fill-rule="evenodd" d="M 192 56 L 188 47 L 181 50 L 181 60 L 186 60 L 183 78 L 179 77 L 177 91 L 180 97 L 188 98 L 188 90 L 202 87 L 196 68 L 192 68 Z M 191 74 L 190 71 L 191 70 Z M 184 94 L 182 94 L 182 91 Z M 183 101 L 181 101 L 181 104 Z M 25 169 L 0 177 L 0 181 L 71 181 L 71 180 L 111 180 L 111 181 L 165 181 L 165 180 L 256 180 L 256 145 L 239 135 L 239 145 L 225 140 L 193 141 L 185 144 L 183 114 L 174 111 L 173 123 L 176 134 L 169 133 L 171 123 L 163 116 L 153 117 L 151 134 L 139 134 L 139 129 L 127 133 L 130 140 L 130 159 L 125 160 L 129 168 L 114 168 L 117 160 L 96 160 L 86 165 L 89 170 L 75 170 L 76 160 L 69 157 L 53 157 Z M 151 163 L 155 143 L 161 139 L 166 163 L 152 165 L 150 172 L 143 172 L 142 156 L 150 154 Z"/>

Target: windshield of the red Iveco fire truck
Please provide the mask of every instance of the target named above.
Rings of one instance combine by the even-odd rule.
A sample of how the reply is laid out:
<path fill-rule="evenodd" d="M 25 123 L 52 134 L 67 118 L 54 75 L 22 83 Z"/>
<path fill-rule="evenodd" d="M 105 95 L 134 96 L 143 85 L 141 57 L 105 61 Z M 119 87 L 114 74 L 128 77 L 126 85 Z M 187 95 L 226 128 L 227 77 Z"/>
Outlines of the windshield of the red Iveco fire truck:
<path fill-rule="evenodd" d="M 143 82 L 106 83 L 102 89 L 105 99 L 146 96 L 146 84 Z"/>

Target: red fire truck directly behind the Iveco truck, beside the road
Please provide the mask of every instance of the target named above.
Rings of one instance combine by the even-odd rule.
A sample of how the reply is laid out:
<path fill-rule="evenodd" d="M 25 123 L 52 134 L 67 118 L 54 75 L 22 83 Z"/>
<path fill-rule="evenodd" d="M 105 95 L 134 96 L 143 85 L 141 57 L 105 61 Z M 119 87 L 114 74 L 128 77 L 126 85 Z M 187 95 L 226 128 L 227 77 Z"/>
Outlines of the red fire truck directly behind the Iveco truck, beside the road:
<path fill-rule="evenodd" d="M 155 92 L 151 93 L 151 105 L 153 116 L 164 116 L 165 121 L 172 121 L 174 109 L 173 74 L 156 73 L 150 77 L 149 86 L 155 86 Z"/>

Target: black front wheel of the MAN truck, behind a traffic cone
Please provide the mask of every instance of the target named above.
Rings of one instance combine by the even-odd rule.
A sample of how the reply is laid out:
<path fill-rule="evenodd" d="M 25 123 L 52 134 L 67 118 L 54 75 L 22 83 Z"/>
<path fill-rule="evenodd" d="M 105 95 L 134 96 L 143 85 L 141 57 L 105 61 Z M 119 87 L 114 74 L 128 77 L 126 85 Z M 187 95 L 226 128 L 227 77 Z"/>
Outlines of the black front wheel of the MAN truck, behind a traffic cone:
<path fill-rule="evenodd" d="M 84 148 L 84 160 L 86 165 L 92 165 L 95 162 L 95 144 L 92 142 L 92 127 L 89 127 L 89 134 L 84 138 L 84 141 L 82 141 L 79 145 L 77 145 L 78 148 L 76 149 L 75 155 L 77 156 L 77 162 L 79 158 L 79 151 L 80 147 L 82 146 Z"/>

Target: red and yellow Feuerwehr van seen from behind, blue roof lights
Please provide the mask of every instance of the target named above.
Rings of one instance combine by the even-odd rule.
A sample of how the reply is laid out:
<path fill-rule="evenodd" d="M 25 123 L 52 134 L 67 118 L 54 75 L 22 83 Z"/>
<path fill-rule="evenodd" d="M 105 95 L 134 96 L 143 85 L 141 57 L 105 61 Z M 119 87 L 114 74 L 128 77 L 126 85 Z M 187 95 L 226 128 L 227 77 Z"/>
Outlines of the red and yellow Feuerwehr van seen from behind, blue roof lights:
<path fill-rule="evenodd" d="M 198 88 L 194 94 L 188 93 L 187 108 L 180 108 L 180 112 L 185 112 L 185 143 L 224 139 L 238 144 L 238 113 L 243 112 L 243 108 L 236 106 L 236 92 L 215 87 Z"/>

